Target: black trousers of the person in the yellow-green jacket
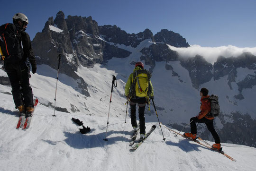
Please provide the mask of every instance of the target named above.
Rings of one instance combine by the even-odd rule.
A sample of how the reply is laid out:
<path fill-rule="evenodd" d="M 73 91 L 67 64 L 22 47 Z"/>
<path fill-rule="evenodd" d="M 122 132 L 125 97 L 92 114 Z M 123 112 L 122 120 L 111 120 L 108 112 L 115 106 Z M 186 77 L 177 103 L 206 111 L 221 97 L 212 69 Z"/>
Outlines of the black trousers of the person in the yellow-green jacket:
<path fill-rule="evenodd" d="M 146 107 L 146 98 L 145 97 L 138 97 L 135 99 L 130 100 L 130 107 L 131 107 L 131 125 L 132 127 L 137 127 L 137 120 L 136 120 L 136 104 L 138 103 L 138 113 L 139 113 L 139 133 L 145 134 L 146 133 L 146 126 L 145 126 L 145 116 L 144 111 Z"/>

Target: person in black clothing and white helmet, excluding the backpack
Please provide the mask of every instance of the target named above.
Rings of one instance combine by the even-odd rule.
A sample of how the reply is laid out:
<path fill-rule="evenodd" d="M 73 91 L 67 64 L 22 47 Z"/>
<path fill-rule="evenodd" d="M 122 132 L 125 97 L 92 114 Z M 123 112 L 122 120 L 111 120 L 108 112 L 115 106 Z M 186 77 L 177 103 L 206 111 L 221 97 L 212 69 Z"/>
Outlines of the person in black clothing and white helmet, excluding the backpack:
<path fill-rule="evenodd" d="M 13 24 L 16 26 L 18 32 L 19 45 L 23 55 L 21 60 L 15 62 L 5 61 L 4 68 L 11 83 L 15 108 L 18 108 L 20 112 L 26 110 L 29 115 L 29 113 L 31 114 L 34 111 L 33 93 L 29 85 L 29 78 L 31 77 L 30 64 L 32 73 L 35 74 L 37 63 L 32 50 L 30 37 L 25 32 L 28 24 L 27 17 L 22 13 L 17 13 L 13 16 Z"/>

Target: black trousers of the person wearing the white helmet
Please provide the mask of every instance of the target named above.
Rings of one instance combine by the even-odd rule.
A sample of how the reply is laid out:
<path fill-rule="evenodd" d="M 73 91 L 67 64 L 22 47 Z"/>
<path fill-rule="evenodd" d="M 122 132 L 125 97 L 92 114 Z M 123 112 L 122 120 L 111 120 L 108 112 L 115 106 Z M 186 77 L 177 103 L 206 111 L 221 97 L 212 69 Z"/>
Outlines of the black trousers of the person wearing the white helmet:
<path fill-rule="evenodd" d="M 29 85 L 29 66 L 26 62 L 5 63 L 5 70 L 9 77 L 15 108 L 24 105 L 34 107 L 32 88 Z"/>

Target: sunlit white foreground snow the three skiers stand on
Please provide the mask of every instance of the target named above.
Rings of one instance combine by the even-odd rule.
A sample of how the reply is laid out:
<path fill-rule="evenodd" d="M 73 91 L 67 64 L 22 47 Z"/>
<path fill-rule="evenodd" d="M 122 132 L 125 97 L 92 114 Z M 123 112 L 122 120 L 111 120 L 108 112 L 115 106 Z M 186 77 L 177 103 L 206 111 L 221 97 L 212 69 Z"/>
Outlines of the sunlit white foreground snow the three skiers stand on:
<path fill-rule="evenodd" d="M 255 170 L 256 149 L 253 147 L 223 143 L 225 152 L 237 160 L 233 162 L 183 137 L 174 137 L 173 133 L 162 127 L 166 138 L 164 142 L 156 122 L 146 123 L 147 130 L 155 124 L 155 131 L 137 151 L 130 152 L 128 144 L 132 128 L 129 118 L 124 123 L 124 113 L 121 117 L 110 114 L 108 142 L 103 141 L 107 116 L 56 111 L 57 117 L 52 117 L 53 109 L 40 103 L 30 128 L 16 129 L 18 111 L 14 109 L 12 96 L 0 94 L 1 102 L 5 102 L 0 104 L 1 171 Z M 82 120 L 84 126 L 91 128 L 91 132 L 82 135 L 72 117 Z"/>

